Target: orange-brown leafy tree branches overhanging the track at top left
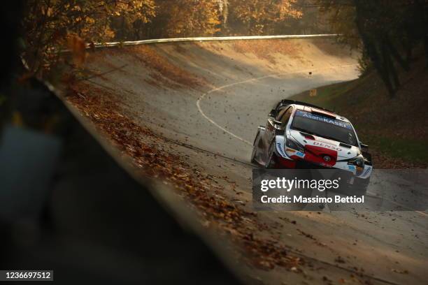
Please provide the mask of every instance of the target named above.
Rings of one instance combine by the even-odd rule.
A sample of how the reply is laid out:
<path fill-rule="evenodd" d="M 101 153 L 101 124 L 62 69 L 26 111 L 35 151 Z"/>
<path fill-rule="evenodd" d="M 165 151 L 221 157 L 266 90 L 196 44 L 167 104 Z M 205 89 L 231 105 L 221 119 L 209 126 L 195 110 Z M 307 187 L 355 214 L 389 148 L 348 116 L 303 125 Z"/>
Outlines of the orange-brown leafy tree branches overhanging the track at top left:
<path fill-rule="evenodd" d="M 116 36 L 113 20 L 120 15 L 125 20 L 146 23 L 155 16 L 154 0 L 28 0 L 24 15 L 25 53 L 31 71 L 53 70 L 60 64 L 58 51 L 64 45 L 73 53 L 73 61 L 81 66 L 85 61 L 83 41 L 105 42 Z M 122 29 L 123 27 L 121 27 Z M 132 25 L 128 27 L 132 31 Z M 64 44 L 64 36 L 67 36 Z"/>

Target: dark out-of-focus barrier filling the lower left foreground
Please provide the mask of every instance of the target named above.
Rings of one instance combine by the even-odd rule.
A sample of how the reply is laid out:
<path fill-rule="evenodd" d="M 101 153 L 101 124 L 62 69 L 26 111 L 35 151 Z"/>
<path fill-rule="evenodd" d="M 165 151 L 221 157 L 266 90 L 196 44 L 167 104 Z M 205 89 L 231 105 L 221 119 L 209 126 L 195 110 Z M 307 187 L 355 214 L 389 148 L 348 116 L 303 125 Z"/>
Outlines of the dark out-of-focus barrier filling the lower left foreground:
<path fill-rule="evenodd" d="M 25 73 L 14 45 L 19 1 L 6 10 L 0 269 L 54 270 L 60 284 L 238 283 L 45 85 L 18 80 Z"/>

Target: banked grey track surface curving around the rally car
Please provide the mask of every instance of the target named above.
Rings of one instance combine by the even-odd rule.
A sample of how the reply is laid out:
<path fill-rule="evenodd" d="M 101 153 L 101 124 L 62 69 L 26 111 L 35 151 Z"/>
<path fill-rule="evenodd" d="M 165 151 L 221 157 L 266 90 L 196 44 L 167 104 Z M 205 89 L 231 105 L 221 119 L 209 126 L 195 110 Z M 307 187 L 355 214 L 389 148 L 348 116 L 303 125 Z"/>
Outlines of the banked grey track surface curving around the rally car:
<path fill-rule="evenodd" d="M 92 54 L 89 68 L 106 74 L 90 83 L 113 90 L 124 103 L 125 115 L 190 146 L 176 151 L 208 173 L 227 175 L 244 193 L 227 195 L 244 202 L 251 200 L 252 140 L 272 105 L 359 74 L 356 54 L 326 39 L 162 43 L 148 48 L 150 52 L 127 47 Z M 188 84 L 189 78 L 203 83 Z M 392 192 L 415 187 L 394 173 L 380 173 L 375 181 L 379 186 L 371 195 L 381 193 L 389 203 L 394 203 Z M 394 187 L 391 193 L 385 190 Z M 311 281 L 280 269 L 248 272 L 266 284 L 341 283 L 340 278 L 352 283 L 358 274 L 373 284 L 426 284 L 427 213 L 408 210 L 260 212 L 267 224 L 281 225 L 278 242 L 316 262 L 318 269 L 308 273 Z"/>

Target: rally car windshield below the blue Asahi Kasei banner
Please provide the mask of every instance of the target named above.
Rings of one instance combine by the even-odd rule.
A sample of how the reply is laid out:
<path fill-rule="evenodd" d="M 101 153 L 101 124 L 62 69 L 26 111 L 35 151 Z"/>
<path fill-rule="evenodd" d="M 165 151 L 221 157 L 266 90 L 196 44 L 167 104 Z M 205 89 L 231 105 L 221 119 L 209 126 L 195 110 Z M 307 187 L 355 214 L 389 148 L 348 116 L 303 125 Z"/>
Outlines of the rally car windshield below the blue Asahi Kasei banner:
<path fill-rule="evenodd" d="M 311 112 L 297 110 L 291 127 L 315 136 L 357 146 L 357 138 L 355 138 L 355 132 L 351 124 L 338 119 L 330 119 L 314 115 Z"/>

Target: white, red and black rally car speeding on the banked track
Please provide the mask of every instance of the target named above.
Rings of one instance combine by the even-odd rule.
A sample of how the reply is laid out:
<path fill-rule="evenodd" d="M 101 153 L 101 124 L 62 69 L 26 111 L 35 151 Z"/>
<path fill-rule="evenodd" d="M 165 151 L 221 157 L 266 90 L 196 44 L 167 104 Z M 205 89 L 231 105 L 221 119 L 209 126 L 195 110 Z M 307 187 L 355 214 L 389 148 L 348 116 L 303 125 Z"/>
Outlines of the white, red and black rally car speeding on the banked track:
<path fill-rule="evenodd" d="M 336 169 L 364 190 L 373 170 L 368 146 L 348 119 L 308 103 L 283 100 L 259 126 L 251 162 L 265 168 Z"/>

